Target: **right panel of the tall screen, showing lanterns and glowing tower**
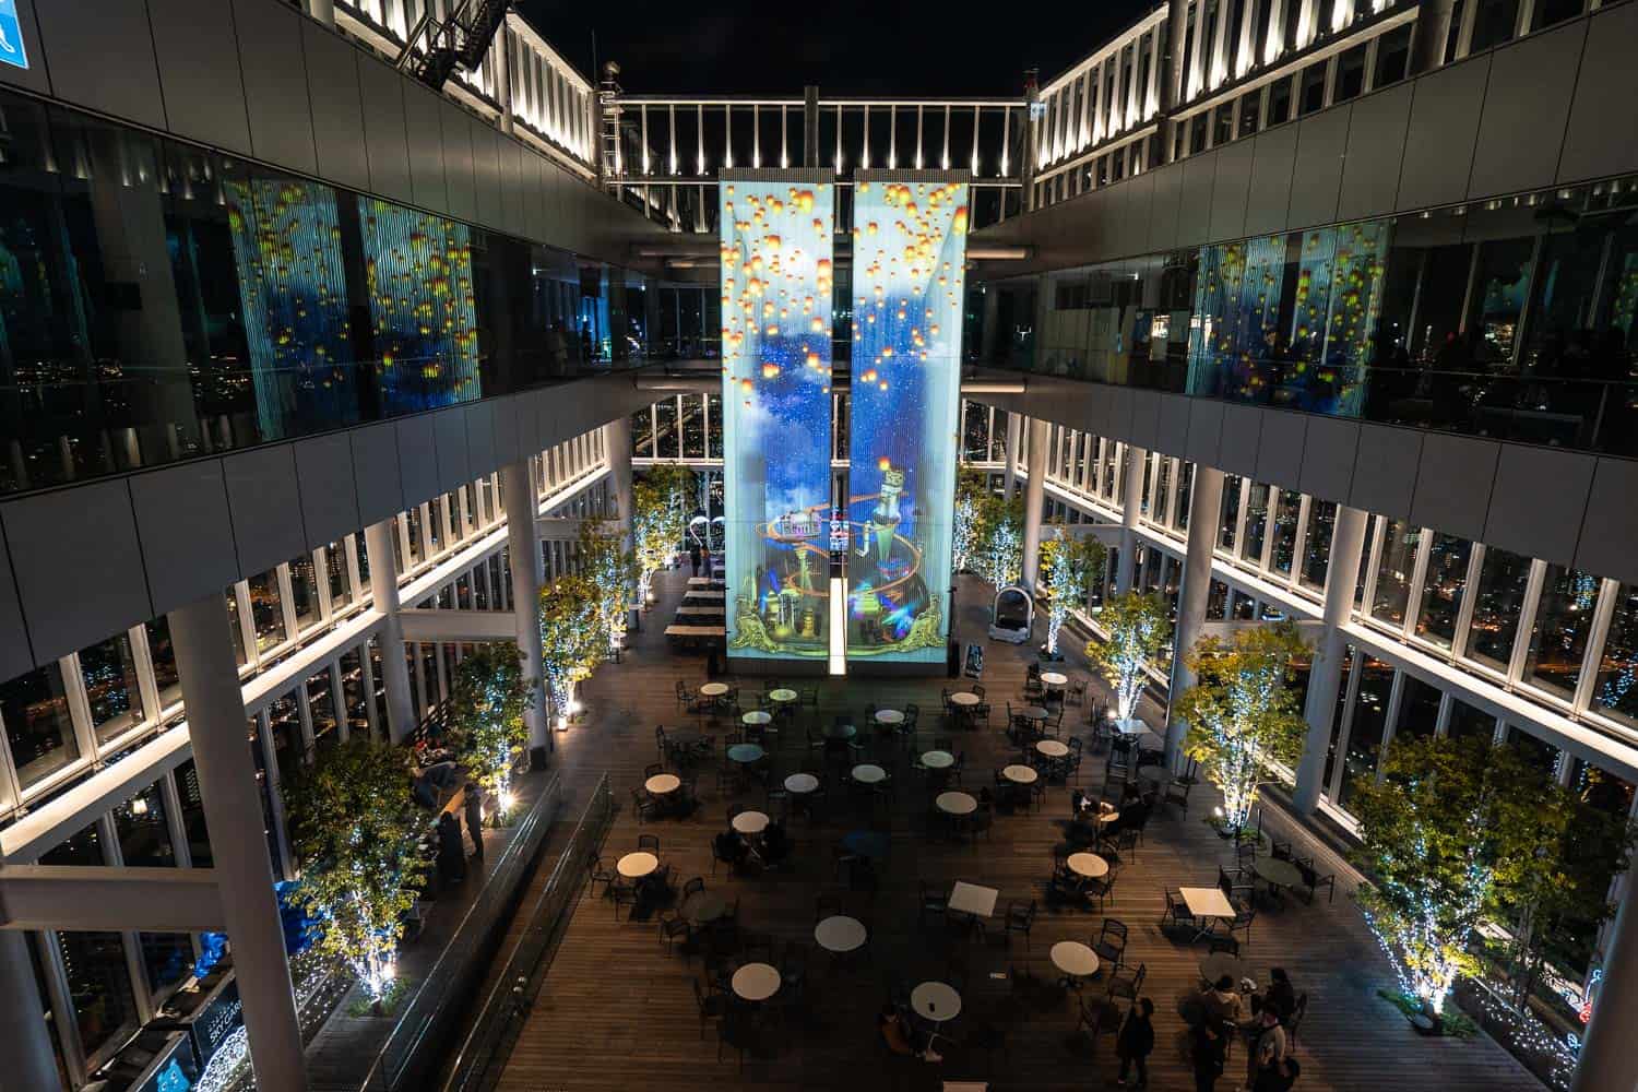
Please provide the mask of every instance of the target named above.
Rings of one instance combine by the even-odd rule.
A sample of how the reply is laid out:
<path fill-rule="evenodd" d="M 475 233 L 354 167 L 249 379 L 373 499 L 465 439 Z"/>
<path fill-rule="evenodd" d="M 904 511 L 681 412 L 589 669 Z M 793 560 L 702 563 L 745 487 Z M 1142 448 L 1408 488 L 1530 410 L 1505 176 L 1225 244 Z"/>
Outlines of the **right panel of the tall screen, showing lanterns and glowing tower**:
<path fill-rule="evenodd" d="M 847 655 L 935 663 L 950 632 L 966 178 L 853 180 Z"/>

